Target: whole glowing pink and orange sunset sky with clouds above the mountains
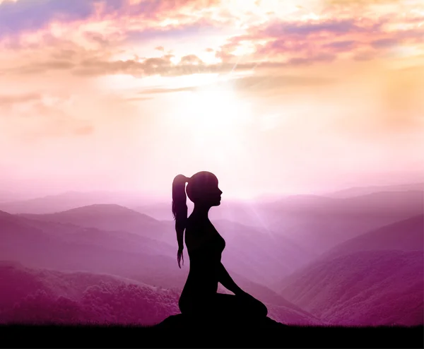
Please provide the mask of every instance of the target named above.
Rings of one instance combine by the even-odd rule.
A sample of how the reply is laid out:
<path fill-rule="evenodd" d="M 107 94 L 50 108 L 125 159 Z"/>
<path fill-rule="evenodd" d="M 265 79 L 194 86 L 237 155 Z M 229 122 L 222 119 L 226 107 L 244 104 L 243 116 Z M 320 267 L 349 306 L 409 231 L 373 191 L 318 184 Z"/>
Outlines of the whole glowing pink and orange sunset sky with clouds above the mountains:
<path fill-rule="evenodd" d="M 421 0 L 0 0 L 0 190 L 424 182 Z"/>

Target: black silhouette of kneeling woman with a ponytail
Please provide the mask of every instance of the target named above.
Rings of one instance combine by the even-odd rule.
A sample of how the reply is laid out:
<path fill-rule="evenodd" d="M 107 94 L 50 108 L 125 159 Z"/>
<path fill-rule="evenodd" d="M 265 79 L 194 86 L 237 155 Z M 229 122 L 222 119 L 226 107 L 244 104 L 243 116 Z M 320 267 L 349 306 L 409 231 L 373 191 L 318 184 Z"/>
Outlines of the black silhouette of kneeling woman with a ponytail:
<path fill-rule="evenodd" d="M 187 218 L 187 196 L 194 210 Z M 232 280 L 221 263 L 225 240 L 208 218 L 212 206 L 219 206 L 221 194 L 218 179 L 211 172 L 198 172 L 191 178 L 177 175 L 172 183 L 172 213 L 177 231 L 177 261 L 181 268 L 183 235 L 189 254 L 190 268 L 187 281 L 179 297 L 182 314 L 201 317 L 266 317 L 268 309 Z M 218 293 L 218 283 L 234 293 Z"/>

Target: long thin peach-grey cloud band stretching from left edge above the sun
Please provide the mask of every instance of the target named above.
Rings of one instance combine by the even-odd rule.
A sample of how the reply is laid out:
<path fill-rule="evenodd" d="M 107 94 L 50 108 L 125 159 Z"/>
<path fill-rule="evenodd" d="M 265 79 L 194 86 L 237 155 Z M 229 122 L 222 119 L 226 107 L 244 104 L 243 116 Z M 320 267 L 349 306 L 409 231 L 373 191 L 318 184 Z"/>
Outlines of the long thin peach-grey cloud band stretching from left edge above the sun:
<path fill-rule="evenodd" d="M 279 48 L 276 45 L 277 48 Z M 87 53 L 85 49 L 81 52 L 72 51 L 66 57 L 66 51 L 59 50 L 57 54 L 50 54 L 47 59 L 37 59 L 34 62 L 15 66 L 13 69 L 4 69 L 3 73 L 16 76 L 42 76 L 48 72 L 70 74 L 79 77 L 108 76 L 116 74 L 130 75 L 137 78 L 144 76 L 187 76 L 199 73 L 230 73 L 241 71 L 261 71 L 266 69 L 281 69 L 290 66 L 306 66 L 312 64 L 323 64 L 336 59 L 333 52 L 309 52 L 302 54 L 305 50 L 298 49 L 290 51 L 292 54 L 287 59 L 267 59 L 257 61 L 254 56 L 245 57 L 244 61 L 225 59 L 218 63 L 208 64 L 195 54 L 188 54 L 173 60 L 172 54 L 164 54 L 161 57 L 149 57 L 140 59 L 110 59 L 108 55 L 102 56 L 96 52 Z M 91 54 L 91 57 L 89 56 Z M 51 57 L 57 57 L 52 59 Z M 237 57 L 232 57 L 237 58 Z"/>

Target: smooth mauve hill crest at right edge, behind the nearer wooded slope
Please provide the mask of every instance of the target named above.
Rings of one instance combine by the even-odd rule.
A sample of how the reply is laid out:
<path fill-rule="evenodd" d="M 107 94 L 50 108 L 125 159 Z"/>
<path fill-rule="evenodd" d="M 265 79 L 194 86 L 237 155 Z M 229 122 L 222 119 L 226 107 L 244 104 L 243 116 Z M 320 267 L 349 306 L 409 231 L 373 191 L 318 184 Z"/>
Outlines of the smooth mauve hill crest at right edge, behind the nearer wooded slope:
<path fill-rule="evenodd" d="M 368 250 L 423 251 L 424 249 L 424 215 L 401 220 L 386 225 L 372 232 L 365 233 L 342 244 L 338 244 L 326 257 L 351 254 Z"/>

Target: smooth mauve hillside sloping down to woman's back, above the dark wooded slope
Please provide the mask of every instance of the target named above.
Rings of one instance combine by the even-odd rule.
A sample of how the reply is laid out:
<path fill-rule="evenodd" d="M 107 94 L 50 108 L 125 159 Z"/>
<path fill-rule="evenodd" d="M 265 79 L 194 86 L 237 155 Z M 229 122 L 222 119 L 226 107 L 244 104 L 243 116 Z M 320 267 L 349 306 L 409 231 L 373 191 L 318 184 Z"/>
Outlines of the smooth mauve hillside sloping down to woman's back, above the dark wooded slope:
<path fill-rule="evenodd" d="M 138 248 L 136 244 L 132 249 L 117 249 L 106 238 L 86 239 L 84 234 L 84 239 L 72 238 L 61 235 L 60 230 L 52 234 L 44 227 L 31 226 L 29 221 L 7 213 L 0 216 L 1 259 L 39 268 L 111 273 L 163 287 L 184 285 L 187 269 L 176 268 L 175 257 L 148 253 L 143 245 Z"/>

